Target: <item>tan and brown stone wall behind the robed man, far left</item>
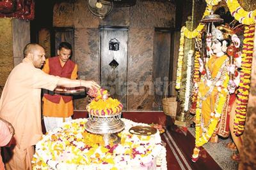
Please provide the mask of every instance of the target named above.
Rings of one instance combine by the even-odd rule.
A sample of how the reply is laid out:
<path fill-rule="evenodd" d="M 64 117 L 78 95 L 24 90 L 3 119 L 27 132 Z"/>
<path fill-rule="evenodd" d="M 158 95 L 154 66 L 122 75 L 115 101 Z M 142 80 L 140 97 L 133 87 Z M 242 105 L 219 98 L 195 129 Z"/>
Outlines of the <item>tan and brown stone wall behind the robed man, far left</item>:
<path fill-rule="evenodd" d="M 0 18 L 0 95 L 13 67 L 22 61 L 23 48 L 29 42 L 29 21 Z"/>

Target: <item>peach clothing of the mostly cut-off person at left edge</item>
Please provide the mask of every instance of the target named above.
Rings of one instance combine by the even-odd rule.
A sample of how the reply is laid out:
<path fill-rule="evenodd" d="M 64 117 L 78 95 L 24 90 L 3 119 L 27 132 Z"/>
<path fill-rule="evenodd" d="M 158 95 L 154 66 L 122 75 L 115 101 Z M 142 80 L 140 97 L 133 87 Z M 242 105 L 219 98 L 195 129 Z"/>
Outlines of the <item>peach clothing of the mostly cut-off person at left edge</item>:
<path fill-rule="evenodd" d="M 0 120 L 0 146 L 5 146 L 9 143 L 9 141 L 12 138 L 12 134 L 10 133 L 10 130 L 8 126 Z M 4 164 L 2 161 L 2 157 L 0 154 L 0 170 L 4 170 Z"/>

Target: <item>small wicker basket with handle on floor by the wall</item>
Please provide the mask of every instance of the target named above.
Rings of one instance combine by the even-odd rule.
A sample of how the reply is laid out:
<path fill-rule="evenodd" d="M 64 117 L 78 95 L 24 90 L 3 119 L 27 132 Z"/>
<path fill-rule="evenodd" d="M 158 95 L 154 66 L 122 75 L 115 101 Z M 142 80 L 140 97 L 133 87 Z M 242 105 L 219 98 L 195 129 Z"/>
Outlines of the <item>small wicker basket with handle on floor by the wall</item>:
<path fill-rule="evenodd" d="M 168 115 L 170 117 L 176 117 L 176 113 L 177 113 L 176 97 L 167 97 L 168 87 L 169 85 L 166 87 L 166 90 L 164 92 L 164 98 L 162 99 L 163 111 L 165 115 Z"/>

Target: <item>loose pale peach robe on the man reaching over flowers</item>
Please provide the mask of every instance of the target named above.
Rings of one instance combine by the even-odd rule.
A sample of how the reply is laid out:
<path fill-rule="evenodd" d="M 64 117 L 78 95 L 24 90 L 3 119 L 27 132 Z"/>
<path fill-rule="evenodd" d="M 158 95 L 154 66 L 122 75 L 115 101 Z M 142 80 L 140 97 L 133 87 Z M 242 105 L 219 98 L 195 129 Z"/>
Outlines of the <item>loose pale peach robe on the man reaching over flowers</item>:
<path fill-rule="evenodd" d="M 8 76 L 0 99 L 0 117 L 15 129 L 14 150 L 24 152 L 42 138 L 41 89 L 54 90 L 59 80 L 59 76 L 45 74 L 27 58 Z M 14 153 L 12 160 L 17 159 L 20 155 Z"/>

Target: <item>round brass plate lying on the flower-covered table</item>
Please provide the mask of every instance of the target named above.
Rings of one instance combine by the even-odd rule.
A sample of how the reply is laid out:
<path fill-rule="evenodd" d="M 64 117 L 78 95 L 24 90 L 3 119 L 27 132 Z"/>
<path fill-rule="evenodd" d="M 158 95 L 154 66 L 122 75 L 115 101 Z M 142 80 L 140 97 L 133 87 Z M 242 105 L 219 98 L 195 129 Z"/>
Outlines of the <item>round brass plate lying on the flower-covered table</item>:
<path fill-rule="evenodd" d="M 138 134 L 143 136 L 150 136 L 152 134 L 156 134 L 157 129 L 151 126 L 142 126 L 142 125 L 136 125 L 134 127 L 131 127 L 129 129 L 129 132 L 131 134 Z"/>

